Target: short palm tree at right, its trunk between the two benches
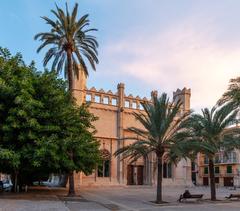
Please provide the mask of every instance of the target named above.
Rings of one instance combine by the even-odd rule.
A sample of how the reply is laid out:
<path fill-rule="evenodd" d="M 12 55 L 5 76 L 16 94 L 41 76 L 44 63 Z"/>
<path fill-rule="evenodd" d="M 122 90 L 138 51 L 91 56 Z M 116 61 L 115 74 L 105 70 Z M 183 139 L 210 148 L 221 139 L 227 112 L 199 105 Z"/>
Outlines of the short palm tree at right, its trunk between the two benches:
<path fill-rule="evenodd" d="M 189 136 L 199 143 L 194 150 L 203 153 L 209 159 L 209 175 L 211 200 L 216 200 L 216 187 L 214 175 L 214 158 L 216 153 L 229 152 L 239 148 L 240 128 L 229 128 L 229 124 L 235 120 L 237 110 L 232 105 L 214 106 L 211 110 L 202 109 L 202 114 L 193 114 L 188 119 L 187 127 Z"/>

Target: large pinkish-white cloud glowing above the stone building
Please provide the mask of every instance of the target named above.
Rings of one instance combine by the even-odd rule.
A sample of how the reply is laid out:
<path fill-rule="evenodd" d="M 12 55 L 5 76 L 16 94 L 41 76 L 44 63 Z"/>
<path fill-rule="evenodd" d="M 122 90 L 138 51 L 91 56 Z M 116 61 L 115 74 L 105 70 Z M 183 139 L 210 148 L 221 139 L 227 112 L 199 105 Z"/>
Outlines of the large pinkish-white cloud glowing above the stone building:
<path fill-rule="evenodd" d="M 202 24 L 202 26 L 197 26 Z M 192 107 L 213 106 L 230 78 L 240 74 L 240 42 L 218 40 L 214 20 L 207 25 L 187 19 L 164 31 L 141 32 L 108 43 L 108 60 L 125 77 L 172 92 L 192 89 Z"/>

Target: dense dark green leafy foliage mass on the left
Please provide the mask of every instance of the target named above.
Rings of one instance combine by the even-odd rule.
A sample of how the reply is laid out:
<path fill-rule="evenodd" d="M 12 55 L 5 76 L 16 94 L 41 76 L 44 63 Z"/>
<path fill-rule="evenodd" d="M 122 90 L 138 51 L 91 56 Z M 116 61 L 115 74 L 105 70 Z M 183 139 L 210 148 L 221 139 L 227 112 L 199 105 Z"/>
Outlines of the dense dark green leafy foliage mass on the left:
<path fill-rule="evenodd" d="M 0 48 L 0 172 L 17 171 L 22 181 L 69 170 L 90 173 L 99 160 L 95 120 L 55 73 L 37 72 L 20 54 Z"/>

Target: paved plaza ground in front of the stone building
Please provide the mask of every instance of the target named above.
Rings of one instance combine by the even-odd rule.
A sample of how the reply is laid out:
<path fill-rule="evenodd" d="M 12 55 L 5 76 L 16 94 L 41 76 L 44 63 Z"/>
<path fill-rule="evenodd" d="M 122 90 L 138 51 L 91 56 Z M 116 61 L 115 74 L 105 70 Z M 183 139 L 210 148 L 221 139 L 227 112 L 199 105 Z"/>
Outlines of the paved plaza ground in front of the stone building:
<path fill-rule="evenodd" d="M 77 211 L 77 210 L 160 210 L 160 211 L 239 211 L 240 201 L 224 199 L 229 193 L 240 193 L 240 189 L 217 189 L 219 201 L 209 202 L 209 188 L 188 188 L 192 193 L 204 194 L 202 201 L 178 203 L 177 198 L 185 188 L 164 187 L 164 205 L 151 203 L 155 199 L 155 188 L 146 186 L 82 188 L 75 198 L 67 198 L 64 189 L 30 190 L 29 193 L 0 195 L 0 211 Z M 79 195 L 80 194 L 80 195 Z"/>

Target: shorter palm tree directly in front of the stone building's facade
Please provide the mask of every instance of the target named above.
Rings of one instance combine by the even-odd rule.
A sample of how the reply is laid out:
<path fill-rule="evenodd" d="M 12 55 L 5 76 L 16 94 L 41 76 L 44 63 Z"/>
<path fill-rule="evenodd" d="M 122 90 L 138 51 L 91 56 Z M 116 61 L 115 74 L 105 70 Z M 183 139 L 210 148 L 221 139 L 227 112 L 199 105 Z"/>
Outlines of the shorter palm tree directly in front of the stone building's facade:
<path fill-rule="evenodd" d="M 126 139 L 132 139 L 135 142 L 115 152 L 116 156 L 122 155 L 123 158 L 130 158 L 130 160 L 136 160 L 141 156 L 146 157 L 149 153 L 156 155 L 158 163 L 156 203 L 163 203 L 163 156 L 179 158 L 180 155 L 182 156 L 182 146 L 187 145 L 185 139 L 187 133 L 183 125 L 190 112 L 180 115 L 181 105 L 180 101 L 170 103 L 165 93 L 159 98 L 153 96 L 152 103 L 142 103 L 145 112 L 134 113 L 134 116 L 144 129 L 128 128 L 134 137 Z"/>

